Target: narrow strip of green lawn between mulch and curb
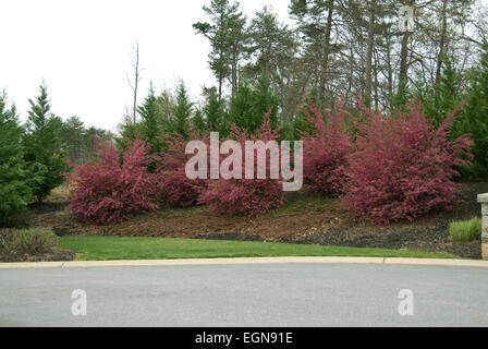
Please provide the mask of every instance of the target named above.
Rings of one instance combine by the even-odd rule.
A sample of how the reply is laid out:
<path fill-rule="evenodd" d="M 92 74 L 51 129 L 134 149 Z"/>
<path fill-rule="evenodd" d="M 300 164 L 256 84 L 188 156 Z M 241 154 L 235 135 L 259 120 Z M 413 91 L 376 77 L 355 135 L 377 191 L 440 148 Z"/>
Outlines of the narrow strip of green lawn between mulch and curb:
<path fill-rule="evenodd" d="M 60 249 L 83 252 L 77 261 L 272 256 L 454 258 L 447 253 L 167 238 L 61 237 Z"/>

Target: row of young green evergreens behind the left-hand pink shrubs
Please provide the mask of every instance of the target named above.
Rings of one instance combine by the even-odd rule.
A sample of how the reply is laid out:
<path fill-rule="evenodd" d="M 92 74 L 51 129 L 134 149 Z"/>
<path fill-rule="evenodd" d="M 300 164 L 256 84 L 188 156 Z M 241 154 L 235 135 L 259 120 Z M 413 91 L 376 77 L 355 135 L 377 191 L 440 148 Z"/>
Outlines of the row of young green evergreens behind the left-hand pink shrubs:
<path fill-rule="evenodd" d="M 174 101 L 171 103 L 171 98 L 157 96 L 150 85 L 146 98 L 137 108 L 137 122 L 122 125 L 119 145 L 125 146 L 126 140 L 139 137 L 151 145 L 152 153 L 157 153 L 162 147 L 163 134 L 178 133 L 186 137 L 191 131 L 213 131 L 227 136 L 231 123 L 254 132 L 263 124 L 267 112 L 270 112 L 272 127 L 279 128 L 280 99 L 266 79 L 241 81 L 232 97 L 221 97 L 216 87 L 205 88 L 204 96 L 204 105 L 197 106 L 191 100 L 184 82 L 180 81 Z M 164 110 L 170 112 L 167 115 Z"/>

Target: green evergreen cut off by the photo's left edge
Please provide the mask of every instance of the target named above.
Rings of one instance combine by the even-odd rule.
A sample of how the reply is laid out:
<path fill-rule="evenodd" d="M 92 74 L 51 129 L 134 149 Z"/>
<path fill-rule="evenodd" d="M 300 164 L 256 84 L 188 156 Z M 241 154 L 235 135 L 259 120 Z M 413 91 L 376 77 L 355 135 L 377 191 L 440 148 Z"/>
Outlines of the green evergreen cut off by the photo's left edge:
<path fill-rule="evenodd" d="M 22 136 L 15 106 L 7 106 L 4 92 L 0 93 L 0 224 L 9 214 L 27 206 L 32 197 L 32 176 L 24 160 Z"/>

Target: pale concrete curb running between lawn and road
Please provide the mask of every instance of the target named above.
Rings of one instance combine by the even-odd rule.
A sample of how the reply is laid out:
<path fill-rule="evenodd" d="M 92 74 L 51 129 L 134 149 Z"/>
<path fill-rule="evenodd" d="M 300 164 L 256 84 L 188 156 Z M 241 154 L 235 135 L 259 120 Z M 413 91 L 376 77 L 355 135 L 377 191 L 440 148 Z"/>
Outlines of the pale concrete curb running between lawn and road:
<path fill-rule="evenodd" d="M 259 258 L 208 258 L 208 260 L 158 260 L 158 261 L 100 261 L 100 262 L 38 262 L 0 263 L 0 269 L 15 268 L 73 268 L 111 266 L 185 266 L 185 265 L 249 265 L 249 264 L 380 264 L 380 265 L 436 265 L 488 268 L 487 261 L 424 260 L 383 257 L 259 257 Z"/>

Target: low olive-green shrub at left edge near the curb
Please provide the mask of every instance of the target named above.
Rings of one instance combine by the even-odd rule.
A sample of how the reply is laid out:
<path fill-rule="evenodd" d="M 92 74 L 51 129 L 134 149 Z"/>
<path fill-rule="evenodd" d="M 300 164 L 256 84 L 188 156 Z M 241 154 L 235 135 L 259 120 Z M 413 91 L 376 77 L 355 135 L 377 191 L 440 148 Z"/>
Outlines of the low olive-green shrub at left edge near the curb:
<path fill-rule="evenodd" d="M 49 252 L 58 244 L 51 229 L 0 230 L 0 251 L 10 255 L 36 255 Z"/>

